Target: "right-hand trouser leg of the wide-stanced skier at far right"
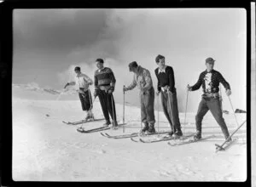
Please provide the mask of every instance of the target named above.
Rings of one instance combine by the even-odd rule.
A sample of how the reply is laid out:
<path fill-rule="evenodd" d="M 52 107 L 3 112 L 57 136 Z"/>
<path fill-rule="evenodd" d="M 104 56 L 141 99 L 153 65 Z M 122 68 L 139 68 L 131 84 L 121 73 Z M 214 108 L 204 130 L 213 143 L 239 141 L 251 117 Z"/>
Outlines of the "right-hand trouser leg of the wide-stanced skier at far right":
<path fill-rule="evenodd" d="M 221 103 L 218 98 L 213 98 L 207 102 L 207 105 L 212 112 L 212 116 L 214 116 L 216 122 L 218 122 L 219 127 L 221 127 L 222 133 L 224 133 L 225 139 L 228 139 L 230 136 L 228 127 L 224 122 L 223 113 L 221 110 Z"/>

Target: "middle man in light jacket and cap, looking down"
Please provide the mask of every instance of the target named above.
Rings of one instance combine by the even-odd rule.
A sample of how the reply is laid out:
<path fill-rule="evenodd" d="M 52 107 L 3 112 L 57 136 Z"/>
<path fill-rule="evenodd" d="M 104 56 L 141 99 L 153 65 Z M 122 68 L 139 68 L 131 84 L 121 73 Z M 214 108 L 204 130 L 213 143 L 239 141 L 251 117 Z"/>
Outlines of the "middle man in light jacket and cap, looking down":
<path fill-rule="evenodd" d="M 128 87 L 124 87 L 123 91 L 128 91 L 137 86 L 140 90 L 141 98 L 141 120 L 143 129 L 141 133 L 155 133 L 154 129 L 154 88 L 150 72 L 137 65 L 136 61 L 129 64 L 130 71 L 134 72 L 133 81 Z"/>

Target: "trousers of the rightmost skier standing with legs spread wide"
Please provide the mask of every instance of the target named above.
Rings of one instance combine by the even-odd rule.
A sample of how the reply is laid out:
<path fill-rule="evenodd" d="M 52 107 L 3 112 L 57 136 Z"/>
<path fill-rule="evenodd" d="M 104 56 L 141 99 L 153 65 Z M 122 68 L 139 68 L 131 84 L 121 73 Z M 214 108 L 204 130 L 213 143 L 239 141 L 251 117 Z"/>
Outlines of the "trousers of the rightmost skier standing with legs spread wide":
<path fill-rule="evenodd" d="M 216 98 L 202 97 L 201 102 L 198 106 L 197 114 L 195 116 L 196 131 L 201 133 L 202 119 L 207 114 L 207 111 L 209 110 L 212 112 L 212 116 L 218 122 L 218 125 L 220 126 L 222 133 L 224 133 L 225 139 L 227 139 L 230 136 L 230 133 L 229 133 L 228 127 L 226 126 L 226 123 L 224 122 L 223 113 L 221 110 L 221 102 L 218 97 Z"/>

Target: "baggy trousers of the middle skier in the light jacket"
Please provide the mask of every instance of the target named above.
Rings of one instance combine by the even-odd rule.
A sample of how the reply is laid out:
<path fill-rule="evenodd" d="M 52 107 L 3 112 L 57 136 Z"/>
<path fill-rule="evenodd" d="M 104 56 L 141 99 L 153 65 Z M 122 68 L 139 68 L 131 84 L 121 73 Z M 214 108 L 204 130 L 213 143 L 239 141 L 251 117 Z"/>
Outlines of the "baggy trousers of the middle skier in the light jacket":
<path fill-rule="evenodd" d="M 140 93 L 141 97 L 141 120 L 143 123 L 154 125 L 154 88 L 151 87 L 147 92 Z"/>

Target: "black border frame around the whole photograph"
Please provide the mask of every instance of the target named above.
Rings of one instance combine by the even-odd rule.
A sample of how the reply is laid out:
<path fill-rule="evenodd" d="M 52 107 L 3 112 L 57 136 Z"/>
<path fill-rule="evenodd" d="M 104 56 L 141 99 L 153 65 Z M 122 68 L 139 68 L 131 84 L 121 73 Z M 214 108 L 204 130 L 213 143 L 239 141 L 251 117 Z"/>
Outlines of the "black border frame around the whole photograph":
<path fill-rule="evenodd" d="M 247 181 L 246 182 L 214 182 L 217 185 L 252 185 L 251 173 L 251 1 L 195 1 L 195 0 L 154 0 L 154 1 L 4 1 L 0 3 L 0 84 L 1 84 L 1 184 L 5 186 L 43 186 L 67 185 L 80 186 L 102 182 L 15 182 L 12 180 L 12 11 L 15 8 L 245 8 L 247 11 Z M 166 181 L 167 182 L 167 181 Z M 213 181 L 212 181 L 213 182 Z M 192 184 L 205 186 L 212 182 L 171 182 L 171 185 Z M 108 182 L 118 184 L 124 182 Z M 137 182 L 132 182 L 137 183 Z M 150 182 L 146 182 L 149 184 Z M 152 183 L 152 182 L 151 182 Z M 159 182 L 157 182 L 159 183 Z M 160 182 L 165 183 L 165 182 Z M 153 183 L 155 184 L 155 182 Z M 166 184 L 164 184 L 166 185 Z"/>

